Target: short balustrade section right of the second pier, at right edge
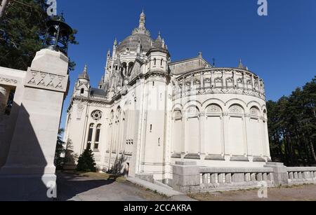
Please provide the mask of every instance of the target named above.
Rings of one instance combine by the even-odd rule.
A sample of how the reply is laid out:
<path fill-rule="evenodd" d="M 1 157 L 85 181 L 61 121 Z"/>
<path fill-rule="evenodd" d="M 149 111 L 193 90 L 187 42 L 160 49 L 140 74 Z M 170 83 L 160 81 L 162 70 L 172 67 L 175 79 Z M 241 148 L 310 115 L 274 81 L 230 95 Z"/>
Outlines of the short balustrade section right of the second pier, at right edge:
<path fill-rule="evenodd" d="M 316 167 L 288 167 L 289 184 L 316 183 Z"/>

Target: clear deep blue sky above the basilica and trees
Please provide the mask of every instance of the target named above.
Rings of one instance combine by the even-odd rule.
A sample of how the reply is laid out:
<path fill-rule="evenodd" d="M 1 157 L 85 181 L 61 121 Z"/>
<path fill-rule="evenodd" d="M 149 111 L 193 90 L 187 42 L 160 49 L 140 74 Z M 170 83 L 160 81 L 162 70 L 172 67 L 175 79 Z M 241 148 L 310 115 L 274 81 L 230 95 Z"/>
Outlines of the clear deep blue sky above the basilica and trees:
<path fill-rule="evenodd" d="M 78 75 L 88 64 L 91 85 L 104 72 L 107 50 L 138 26 L 142 8 L 155 39 L 162 32 L 172 60 L 199 51 L 217 67 L 237 67 L 239 58 L 264 79 L 267 98 L 277 100 L 316 75 L 316 1 L 268 0 L 268 16 L 257 14 L 257 0 L 57 0 L 58 13 L 79 32 L 68 55 L 77 63 L 70 74 L 66 109 Z"/>

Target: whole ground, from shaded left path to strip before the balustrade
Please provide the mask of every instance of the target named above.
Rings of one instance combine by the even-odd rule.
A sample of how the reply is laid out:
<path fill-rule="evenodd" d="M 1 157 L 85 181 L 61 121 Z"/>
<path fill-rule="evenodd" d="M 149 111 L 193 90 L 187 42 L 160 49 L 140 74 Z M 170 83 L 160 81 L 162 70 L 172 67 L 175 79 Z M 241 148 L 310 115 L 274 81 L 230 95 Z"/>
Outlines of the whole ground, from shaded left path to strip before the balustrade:
<path fill-rule="evenodd" d="M 106 174 L 60 173 L 57 186 L 60 201 L 187 200 L 186 196 L 159 195 L 124 178 L 112 178 Z M 269 188 L 266 199 L 258 198 L 258 190 L 203 193 L 190 197 L 200 201 L 316 201 L 316 185 Z"/>

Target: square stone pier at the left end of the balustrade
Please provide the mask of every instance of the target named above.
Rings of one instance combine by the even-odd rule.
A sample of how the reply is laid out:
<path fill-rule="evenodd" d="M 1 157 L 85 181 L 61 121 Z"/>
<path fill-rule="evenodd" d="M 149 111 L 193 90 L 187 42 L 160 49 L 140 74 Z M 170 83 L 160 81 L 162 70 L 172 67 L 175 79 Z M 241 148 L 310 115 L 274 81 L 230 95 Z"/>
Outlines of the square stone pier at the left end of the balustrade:
<path fill-rule="evenodd" d="M 201 179 L 197 162 L 176 162 L 173 165 L 173 189 L 183 193 L 199 190 Z"/>

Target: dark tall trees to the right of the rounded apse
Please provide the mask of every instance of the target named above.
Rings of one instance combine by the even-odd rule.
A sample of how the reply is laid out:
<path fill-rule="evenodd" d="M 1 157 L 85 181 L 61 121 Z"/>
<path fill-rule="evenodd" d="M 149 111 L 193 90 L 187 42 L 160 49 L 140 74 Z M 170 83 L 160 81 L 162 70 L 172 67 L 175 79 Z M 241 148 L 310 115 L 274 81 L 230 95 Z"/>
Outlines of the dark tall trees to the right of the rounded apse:
<path fill-rule="evenodd" d="M 267 103 L 273 160 L 289 166 L 316 164 L 315 104 L 316 77 L 289 97 Z"/>

